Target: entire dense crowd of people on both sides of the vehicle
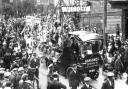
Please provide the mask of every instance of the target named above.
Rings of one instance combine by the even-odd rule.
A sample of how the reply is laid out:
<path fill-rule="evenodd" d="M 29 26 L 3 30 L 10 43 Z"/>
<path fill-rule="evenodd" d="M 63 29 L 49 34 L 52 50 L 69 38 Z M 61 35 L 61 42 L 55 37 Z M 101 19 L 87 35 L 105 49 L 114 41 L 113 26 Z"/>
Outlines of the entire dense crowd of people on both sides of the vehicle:
<path fill-rule="evenodd" d="M 80 55 L 78 44 L 73 44 L 74 40 L 69 39 L 67 34 L 73 31 L 74 26 L 69 17 L 62 27 L 53 17 L 42 19 L 41 24 L 26 25 L 25 18 L 2 19 L 0 22 L 0 87 L 3 89 L 37 89 L 39 86 L 39 67 L 43 59 L 48 67 L 48 77 L 52 81 L 48 82 L 47 89 L 66 89 L 67 87 L 59 82 L 59 75 L 54 74 L 57 69 L 51 66 L 56 65 L 57 59 L 62 51 L 70 54 L 69 46 L 73 46 L 73 52 L 78 57 Z M 94 31 L 96 32 L 96 31 Z M 68 44 L 69 43 L 69 44 Z M 121 78 L 124 72 L 128 73 L 128 41 L 122 41 L 119 37 L 111 36 L 107 46 L 103 48 L 103 71 L 113 72 L 107 74 L 102 89 L 114 89 L 114 80 Z M 73 44 L 73 45 L 72 45 Z M 64 47 L 67 47 L 64 50 Z M 72 47 L 72 48 L 73 48 Z M 36 50 L 41 51 L 38 55 Z M 101 48 L 102 49 L 102 48 Z M 63 52 L 64 53 L 64 52 Z M 65 54 L 67 55 L 67 54 Z M 64 56 L 68 59 L 67 56 Z M 74 58 L 72 58 L 74 59 Z M 68 62 L 68 61 L 67 61 Z M 74 63 L 78 62 L 76 60 Z M 102 67 L 101 66 L 101 67 Z M 54 70 L 54 71 L 53 71 Z M 77 89 L 79 84 L 72 76 L 71 89 Z M 84 77 L 81 89 L 93 89 L 89 84 L 89 77 Z M 107 83 L 112 81 L 109 87 Z M 128 83 L 128 78 L 127 81 Z"/>

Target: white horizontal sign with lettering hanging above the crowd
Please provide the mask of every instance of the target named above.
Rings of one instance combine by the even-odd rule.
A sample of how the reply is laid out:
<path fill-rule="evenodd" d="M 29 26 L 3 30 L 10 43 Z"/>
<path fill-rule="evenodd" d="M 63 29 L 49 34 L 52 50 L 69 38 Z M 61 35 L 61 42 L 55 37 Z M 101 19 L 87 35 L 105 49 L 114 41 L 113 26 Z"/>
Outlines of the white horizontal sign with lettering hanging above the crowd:
<path fill-rule="evenodd" d="M 88 11 L 90 11 L 90 6 L 62 7 L 62 12 L 88 12 Z"/>

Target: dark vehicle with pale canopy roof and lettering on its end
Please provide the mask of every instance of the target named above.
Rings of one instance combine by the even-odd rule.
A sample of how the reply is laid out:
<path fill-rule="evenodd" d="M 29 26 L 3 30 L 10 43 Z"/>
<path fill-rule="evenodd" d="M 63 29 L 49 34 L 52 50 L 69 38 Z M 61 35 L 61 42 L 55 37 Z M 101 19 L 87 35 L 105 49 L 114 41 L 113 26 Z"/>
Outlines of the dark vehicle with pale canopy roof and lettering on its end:
<path fill-rule="evenodd" d="M 98 78 L 102 62 L 99 54 L 102 36 L 87 31 L 69 32 L 69 36 L 71 44 L 63 49 L 57 61 L 58 72 L 68 78 L 75 64 L 80 76 L 86 74 L 92 79 Z"/>

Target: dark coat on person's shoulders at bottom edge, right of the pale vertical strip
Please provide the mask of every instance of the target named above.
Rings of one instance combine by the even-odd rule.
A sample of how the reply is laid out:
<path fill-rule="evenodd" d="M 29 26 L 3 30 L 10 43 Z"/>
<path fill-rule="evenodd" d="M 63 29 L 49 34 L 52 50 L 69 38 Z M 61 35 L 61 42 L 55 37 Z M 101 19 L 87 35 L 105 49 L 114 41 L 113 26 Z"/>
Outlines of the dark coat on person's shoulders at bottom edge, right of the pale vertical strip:
<path fill-rule="evenodd" d="M 48 84 L 47 89 L 66 89 L 66 86 L 57 81 Z"/>

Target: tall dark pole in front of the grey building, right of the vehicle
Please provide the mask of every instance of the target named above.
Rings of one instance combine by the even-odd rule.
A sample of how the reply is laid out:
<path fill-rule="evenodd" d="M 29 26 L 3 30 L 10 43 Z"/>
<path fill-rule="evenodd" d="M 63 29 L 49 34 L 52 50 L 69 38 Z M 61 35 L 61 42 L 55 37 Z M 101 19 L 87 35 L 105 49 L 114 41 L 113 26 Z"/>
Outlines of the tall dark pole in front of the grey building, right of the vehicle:
<path fill-rule="evenodd" d="M 104 26 L 103 26 L 103 38 L 104 38 L 104 46 L 106 47 L 106 29 L 107 29 L 107 0 L 104 0 Z"/>

